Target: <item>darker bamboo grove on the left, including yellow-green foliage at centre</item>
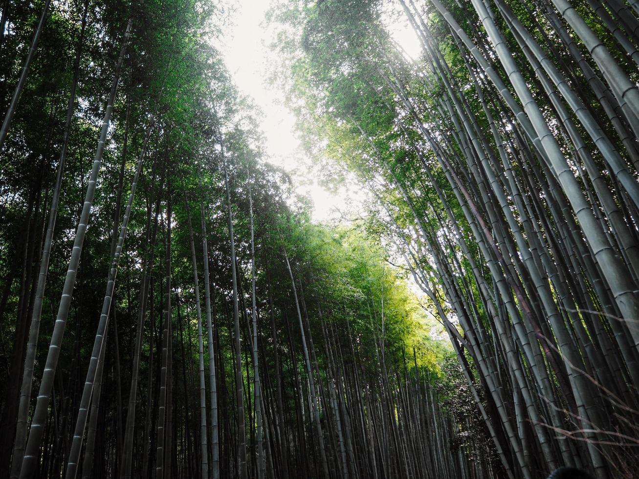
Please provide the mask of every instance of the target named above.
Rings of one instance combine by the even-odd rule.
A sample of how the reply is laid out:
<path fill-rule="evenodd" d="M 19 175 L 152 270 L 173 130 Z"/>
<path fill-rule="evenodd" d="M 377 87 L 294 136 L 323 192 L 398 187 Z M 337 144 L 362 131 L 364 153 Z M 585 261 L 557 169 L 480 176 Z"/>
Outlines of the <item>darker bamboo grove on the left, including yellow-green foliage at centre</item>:
<path fill-rule="evenodd" d="M 266 161 L 230 6 L 1 4 L 0 476 L 502 475 L 381 235 Z"/>

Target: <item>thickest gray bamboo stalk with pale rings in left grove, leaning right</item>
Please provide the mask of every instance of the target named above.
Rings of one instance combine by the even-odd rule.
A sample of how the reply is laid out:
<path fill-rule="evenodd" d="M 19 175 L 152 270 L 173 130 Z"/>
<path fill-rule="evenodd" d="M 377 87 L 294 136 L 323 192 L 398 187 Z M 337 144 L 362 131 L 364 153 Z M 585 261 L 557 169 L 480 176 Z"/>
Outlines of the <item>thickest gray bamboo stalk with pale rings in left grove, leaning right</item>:
<path fill-rule="evenodd" d="M 98 179 L 98 172 L 100 171 L 100 163 L 102 163 L 102 152 L 104 151 L 107 133 L 109 132 L 109 125 L 111 124 L 113 103 L 115 100 L 116 91 L 118 90 L 119 77 L 124 62 L 125 52 L 127 51 L 132 22 L 132 19 L 128 20 L 127 29 L 124 34 L 123 45 L 118 57 L 115 77 L 111 87 L 111 95 L 109 95 L 109 102 L 107 103 L 104 119 L 102 121 L 100 141 L 98 141 L 98 148 L 93 160 L 93 168 L 91 169 L 91 176 L 89 177 L 86 196 L 84 197 L 84 204 L 82 205 L 80 222 L 77 226 L 75 239 L 73 240 L 73 250 L 71 259 L 69 261 L 68 270 L 66 272 L 65 285 L 63 286 L 62 297 L 58 307 L 58 315 L 56 317 L 56 323 L 54 325 L 53 333 L 51 336 L 49 352 L 47 353 L 47 361 L 45 363 L 45 369 L 42 375 L 42 382 L 40 383 L 40 391 L 38 392 L 38 400 L 36 402 L 35 411 L 31 420 L 29 439 L 27 439 L 24 459 L 22 460 L 22 468 L 20 469 L 20 479 L 32 478 L 35 475 L 36 470 L 38 469 L 38 463 L 40 462 L 38 460 L 40 457 L 40 443 L 42 441 L 45 423 L 47 422 L 47 416 L 49 415 L 49 400 L 56 374 L 56 367 L 58 366 L 58 358 L 60 354 L 60 347 L 62 346 L 62 338 L 65 333 L 66 318 L 68 317 L 69 308 L 71 305 L 73 287 L 75 286 L 75 277 L 77 275 L 77 269 L 80 262 L 80 254 L 82 252 L 82 244 L 84 243 L 84 236 L 86 235 L 86 230 L 89 222 L 89 213 L 91 211 L 91 205 L 93 204 L 93 195 L 95 194 L 96 181 Z"/>

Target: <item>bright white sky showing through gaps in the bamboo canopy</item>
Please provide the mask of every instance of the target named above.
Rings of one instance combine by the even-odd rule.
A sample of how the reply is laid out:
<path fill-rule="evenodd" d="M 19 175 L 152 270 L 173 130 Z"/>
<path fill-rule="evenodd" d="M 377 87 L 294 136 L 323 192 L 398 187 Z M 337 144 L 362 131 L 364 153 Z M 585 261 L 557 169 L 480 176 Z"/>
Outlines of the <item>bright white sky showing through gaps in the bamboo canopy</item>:
<path fill-rule="evenodd" d="M 302 157 L 295 134 L 295 117 L 282 104 L 282 91 L 266 84 L 267 65 L 278 59 L 268 49 L 265 13 L 272 0 L 238 0 L 231 24 L 226 27 L 221 46 L 226 65 L 243 95 L 250 96 L 263 111 L 261 130 L 265 134 L 266 152 L 270 162 L 288 171 L 299 194 L 311 197 L 312 217 L 319 222 L 339 220 L 342 213 L 350 217 L 358 211 L 366 194 L 357 187 L 343 188 L 331 194 L 318 184 L 318 173 Z M 389 26 L 395 40 L 410 56 L 419 54 L 419 40 L 407 22 Z"/>

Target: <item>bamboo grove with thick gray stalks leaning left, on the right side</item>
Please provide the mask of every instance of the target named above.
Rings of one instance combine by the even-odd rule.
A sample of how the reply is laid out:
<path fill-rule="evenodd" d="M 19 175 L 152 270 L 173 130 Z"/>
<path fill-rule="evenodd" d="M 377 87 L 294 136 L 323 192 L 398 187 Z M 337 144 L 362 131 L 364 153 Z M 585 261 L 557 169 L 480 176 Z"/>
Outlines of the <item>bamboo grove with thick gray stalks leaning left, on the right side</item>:
<path fill-rule="evenodd" d="M 367 185 L 367 226 L 445 324 L 505 476 L 635 477 L 638 5 L 281 10 L 307 149 Z M 401 22 L 417 58 L 389 33 Z"/>

